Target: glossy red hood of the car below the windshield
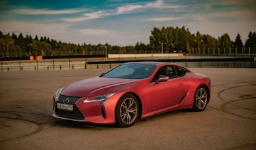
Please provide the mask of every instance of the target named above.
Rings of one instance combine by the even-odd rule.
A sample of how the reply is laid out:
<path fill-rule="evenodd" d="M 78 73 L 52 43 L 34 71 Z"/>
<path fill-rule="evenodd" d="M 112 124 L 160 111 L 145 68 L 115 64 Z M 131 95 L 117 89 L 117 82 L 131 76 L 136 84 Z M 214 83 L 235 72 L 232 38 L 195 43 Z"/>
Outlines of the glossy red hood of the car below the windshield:
<path fill-rule="evenodd" d="M 128 88 L 141 79 L 119 79 L 107 77 L 93 77 L 71 83 L 61 90 L 61 95 L 74 97 L 91 97 L 100 94 L 118 92 Z M 124 86 L 126 84 L 126 86 Z M 128 84 L 128 85 L 127 85 Z"/>

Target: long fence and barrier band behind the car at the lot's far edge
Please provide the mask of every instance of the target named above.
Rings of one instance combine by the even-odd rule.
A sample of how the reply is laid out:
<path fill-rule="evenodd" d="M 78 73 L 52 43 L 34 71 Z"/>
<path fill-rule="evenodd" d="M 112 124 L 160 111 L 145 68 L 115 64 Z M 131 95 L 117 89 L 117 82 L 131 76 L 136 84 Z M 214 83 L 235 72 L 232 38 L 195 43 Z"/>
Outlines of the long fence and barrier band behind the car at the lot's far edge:
<path fill-rule="evenodd" d="M 195 68 L 255 68 L 255 54 L 244 55 L 194 55 L 156 58 L 48 58 L 45 60 L 1 61 L 1 71 L 40 71 L 67 69 L 112 69 L 130 61 L 175 62 L 184 67 Z"/>

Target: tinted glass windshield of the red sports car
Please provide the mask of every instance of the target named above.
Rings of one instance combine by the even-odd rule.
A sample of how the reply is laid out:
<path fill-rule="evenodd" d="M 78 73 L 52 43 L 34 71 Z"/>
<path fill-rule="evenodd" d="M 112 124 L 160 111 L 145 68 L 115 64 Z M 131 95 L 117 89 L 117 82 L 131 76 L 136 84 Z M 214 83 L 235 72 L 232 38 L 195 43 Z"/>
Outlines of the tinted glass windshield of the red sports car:
<path fill-rule="evenodd" d="M 155 68 L 156 66 L 152 64 L 122 64 L 102 77 L 144 79 L 150 77 Z"/>

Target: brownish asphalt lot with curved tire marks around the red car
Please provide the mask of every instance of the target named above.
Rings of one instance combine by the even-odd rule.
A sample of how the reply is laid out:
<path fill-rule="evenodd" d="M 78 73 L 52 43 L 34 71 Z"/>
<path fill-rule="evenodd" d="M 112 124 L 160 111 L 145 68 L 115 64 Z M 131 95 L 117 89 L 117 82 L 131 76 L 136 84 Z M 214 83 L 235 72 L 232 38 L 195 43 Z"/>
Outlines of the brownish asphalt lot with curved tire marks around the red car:
<path fill-rule="evenodd" d="M 256 149 L 256 69 L 191 69 L 212 80 L 199 113 L 171 111 L 130 128 L 52 117 L 58 88 L 108 70 L 1 71 L 0 149 Z"/>

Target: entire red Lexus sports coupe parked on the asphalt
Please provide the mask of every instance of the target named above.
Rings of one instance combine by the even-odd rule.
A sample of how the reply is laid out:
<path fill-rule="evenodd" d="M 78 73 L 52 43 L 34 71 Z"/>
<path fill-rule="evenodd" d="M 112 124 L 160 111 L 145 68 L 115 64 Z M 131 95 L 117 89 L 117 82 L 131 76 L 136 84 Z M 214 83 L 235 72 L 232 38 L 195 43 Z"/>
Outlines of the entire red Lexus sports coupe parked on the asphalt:
<path fill-rule="evenodd" d="M 203 111 L 210 91 L 209 77 L 178 64 L 129 62 L 57 90 L 53 116 L 129 127 L 137 119 L 167 111 Z"/>

